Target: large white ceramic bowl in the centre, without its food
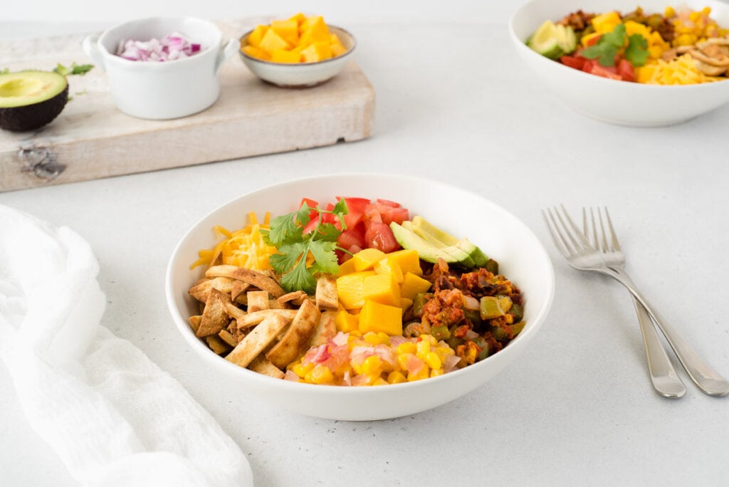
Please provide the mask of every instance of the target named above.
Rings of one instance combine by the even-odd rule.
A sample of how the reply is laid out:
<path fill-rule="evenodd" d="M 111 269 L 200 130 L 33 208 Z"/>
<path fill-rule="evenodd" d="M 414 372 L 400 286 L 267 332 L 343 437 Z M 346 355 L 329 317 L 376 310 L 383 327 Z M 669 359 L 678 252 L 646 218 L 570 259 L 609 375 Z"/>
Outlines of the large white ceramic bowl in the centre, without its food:
<path fill-rule="evenodd" d="M 461 370 L 412 383 L 377 387 L 319 386 L 278 380 L 235 365 L 195 338 L 187 318 L 199 313 L 187 294 L 203 269 L 190 270 L 198 250 L 215 244 L 214 225 L 240 227 L 249 211 L 273 216 L 296 209 L 303 196 L 324 201 L 336 195 L 396 200 L 444 230 L 475 242 L 499 261 L 499 271 L 523 292 L 523 331 L 502 351 Z M 336 174 L 276 184 L 243 195 L 200 219 L 176 246 L 166 277 L 167 302 L 179 332 L 200 354 L 212 381 L 238 388 L 280 408 L 321 418 L 364 421 L 395 418 L 435 408 L 486 383 L 517 359 L 537 334 L 550 309 L 554 271 L 534 233 L 508 211 L 485 198 L 429 179 L 394 174 Z"/>

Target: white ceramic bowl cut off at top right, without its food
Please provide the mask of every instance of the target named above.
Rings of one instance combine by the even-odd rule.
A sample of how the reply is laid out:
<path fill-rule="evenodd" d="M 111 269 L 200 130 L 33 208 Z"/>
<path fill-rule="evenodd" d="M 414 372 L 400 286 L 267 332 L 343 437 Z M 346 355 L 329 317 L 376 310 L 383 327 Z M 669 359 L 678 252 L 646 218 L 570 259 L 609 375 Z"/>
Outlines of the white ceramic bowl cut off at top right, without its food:
<path fill-rule="evenodd" d="M 720 26 L 729 27 L 729 4 L 716 0 L 679 3 L 694 10 L 711 7 L 712 18 Z M 533 0 L 512 16 L 510 36 L 523 61 L 534 71 L 538 85 L 549 88 L 576 112 L 597 120 L 644 127 L 672 125 L 729 102 L 729 80 L 687 86 L 616 81 L 569 68 L 526 47 L 526 39 L 545 20 L 556 21 L 578 9 L 627 13 L 638 5 L 647 13 L 663 13 L 668 5 L 679 7 L 669 0 Z"/>

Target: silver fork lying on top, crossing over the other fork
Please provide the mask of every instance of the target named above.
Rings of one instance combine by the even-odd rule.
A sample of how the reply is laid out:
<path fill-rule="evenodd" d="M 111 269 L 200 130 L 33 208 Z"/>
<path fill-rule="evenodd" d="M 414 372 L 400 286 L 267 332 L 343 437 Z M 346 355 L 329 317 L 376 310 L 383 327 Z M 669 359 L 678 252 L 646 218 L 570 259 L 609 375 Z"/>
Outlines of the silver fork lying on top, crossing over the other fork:
<path fill-rule="evenodd" d="M 549 218 L 547 218 L 549 215 Z M 547 223 L 547 229 L 557 246 L 557 249 L 565 257 L 572 267 L 580 270 L 593 270 L 614 278 L 623 284 L 636 300 L 645 308 L 651 319 L 658 326 L 666 337 L 668 344 L 673 349 L 679 362 L 686 369 L 691 380 L 701 391 L 711 396 L 725 396 L 729 394 L 729 381 L 715 372 L 712 367 L 698 357 L 693 348 L 683 340 L 677 332 L 668 325 L 665 319 L 661 318 L 653 310 L 650 303 L 636 288 L 636 285 L 621 267 L 612 268 L 604 260 L 604 252 L 593 247 L 585 235 L 582 234 L 572 218 L 569 217 L 564 206 L 561 212 L 558 209 L 547 209 L 542 211 L 542 216 Z M 551 223 L 551 225 L 550 225 Z"/>

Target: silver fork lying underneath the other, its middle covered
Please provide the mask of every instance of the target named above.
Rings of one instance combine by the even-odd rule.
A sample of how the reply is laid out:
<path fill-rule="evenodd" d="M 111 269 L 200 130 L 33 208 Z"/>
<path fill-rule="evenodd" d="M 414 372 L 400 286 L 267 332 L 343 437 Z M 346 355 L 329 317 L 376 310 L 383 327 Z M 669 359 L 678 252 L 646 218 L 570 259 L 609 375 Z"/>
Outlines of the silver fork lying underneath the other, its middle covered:
<path fill-rule="evenodd" d="M 595 214 L 592 208 L 590 208 L 589 224 L 587 211 L 584 208 L 582 209 L 582 233 L 588 238 L 590 244 L 595 249 L 599 249 L 602 252 L 603 260 L 609 268 L 623 269 L 625 265 L 625 254 L 623 254 L 623 249 L 620 248 L 620 243 L 617 241 L 617 235 L 615 235 L 615 230 L 612 227 L 612 221 L 607 208 L 604 209 L 604 213 L 610 233 L 609 242 L 600 209 L 598 209 L 597 214 L 602 238 L 598 238 L 598 225 L 596 225 Z M 592 232 L 589 231 L 590 229 Z M 671 364 L 671 359 L 668 359 L 666 349 L 660 343 L 658 332 L 655 331 L 655 327 L 653 327 L 653 323 L 650 321 L 650 315 L 638 303 L 635 297 L 633 297 L 633 305 L 638 315 L 638 324 L 640 325 L 641 335 L 643 336 L 643 346 L 645 348 L 645 356 L 648 362 L 648 371 L 653 388 L 658 394 L 664 397 L 674 399 L 683 397 L 686 394 L 686 386 L 677 375 L 673 364 Z"/>

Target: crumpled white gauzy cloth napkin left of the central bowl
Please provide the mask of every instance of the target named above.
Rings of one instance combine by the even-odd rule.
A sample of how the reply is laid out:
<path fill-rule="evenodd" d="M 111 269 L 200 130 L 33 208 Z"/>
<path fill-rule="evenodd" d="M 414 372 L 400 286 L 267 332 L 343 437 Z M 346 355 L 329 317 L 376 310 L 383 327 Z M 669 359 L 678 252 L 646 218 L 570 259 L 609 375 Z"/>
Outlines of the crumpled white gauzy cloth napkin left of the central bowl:
<path fill-rule="evenodd" d="M 217 421 L 101 326 L 97 274 L 77 233 L 0 205 L 0 357 L 33 429 L 84 486 L 252 485 Z"/>

